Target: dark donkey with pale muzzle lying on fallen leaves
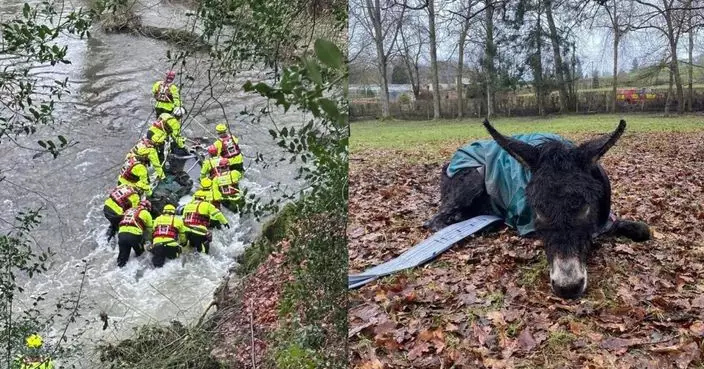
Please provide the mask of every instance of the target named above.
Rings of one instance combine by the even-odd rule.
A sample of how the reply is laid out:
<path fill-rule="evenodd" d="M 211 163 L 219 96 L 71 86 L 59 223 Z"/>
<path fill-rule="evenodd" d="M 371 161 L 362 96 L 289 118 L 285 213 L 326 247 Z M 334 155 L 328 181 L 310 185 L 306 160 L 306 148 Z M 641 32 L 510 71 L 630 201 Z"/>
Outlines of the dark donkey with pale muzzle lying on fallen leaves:
<path fill-rule="evenodd" d="M 549 138 L 531 144 L 517 138 L 520 136 L 502 135 L 488 120 L 484 120 L 484 127 L 500 146 L 495 150 L 499 152 L 498 156 L 487 157 L 482 166 L 477 162 L 465 165 L 451 177 L 448 176 L 450 163 L 445 164 L 440 182 L 440 209 L 424 224 L 426 228 L 437 231 L 481 214 L 507 219 L 507 214 L 513 211 L 516 217 L 511 218 L 511 222 L 507 219 L 506 223 L 518 224 L 523 227 L 517 227 L 522 235 L 532 233 L 543 241 L 550 269 L 550 287 L 556 295 L 570 299 L 579 298 L 587 288 L 587 257 L 596 236 L 610 233 L 637 242 L 650 239 L 647 224 L 616 219 L 611 214 L 611 186 L 598 163 L 623 134 L 624 120 L 612 134 L 579 146 L 556 135 L 547 135 Z M 491 140 L 479 143 L 494 145 Z M 460 151 L 467 153 L 463 149 L 458 153 Z M 503 178 L 508 181 L 486 182 L 485 173 L 492 169 L 488 166 L 506 164 L 513 160 L 511 157 L 520 165 L 509 169 L 514 173 L 499 173 L 505 174 Z M 479 162 L 483 159 L 480 158 Z M 506 169 L 494 168 L 492 175 L 496 176 L 496 170 Z M 521 182 L 517 178 L 524 178 L 527 183 L 516 183 Z M 497 205 L 496 191 L 512 185 L 516 188 L 510 201 L 504 197 L 505 201 L 499 200 Z M 524 202 L 518 198 L 521 196 L 525 196 Z M 516 204 L 519 207 L 524 205 L 524 208 L 511 209 Z"/>

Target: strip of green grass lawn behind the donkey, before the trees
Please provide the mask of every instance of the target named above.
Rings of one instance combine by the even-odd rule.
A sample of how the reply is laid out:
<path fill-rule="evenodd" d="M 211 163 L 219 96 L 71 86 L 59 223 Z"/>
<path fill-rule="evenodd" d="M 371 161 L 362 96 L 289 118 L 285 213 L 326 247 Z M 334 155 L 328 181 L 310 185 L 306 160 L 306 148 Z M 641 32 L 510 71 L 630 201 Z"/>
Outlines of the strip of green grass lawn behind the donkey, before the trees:
<path fill-rule="evenodd" d="M 662 117 L 653 114 L 563 115 L 550 118 L 496 118 L 492 124 L 504 134 L 527 132 L 606 133 L 613 131 L 619 119 L 626 119 L 626 134 L 633 132 L 704 130 L 704 116 Z M 350 123 L 350 150 L 402 149 L 417 151 L 419 147 L 458 143 L 488 138 L 482 119 L 439 121 L 365 121 Z"/>

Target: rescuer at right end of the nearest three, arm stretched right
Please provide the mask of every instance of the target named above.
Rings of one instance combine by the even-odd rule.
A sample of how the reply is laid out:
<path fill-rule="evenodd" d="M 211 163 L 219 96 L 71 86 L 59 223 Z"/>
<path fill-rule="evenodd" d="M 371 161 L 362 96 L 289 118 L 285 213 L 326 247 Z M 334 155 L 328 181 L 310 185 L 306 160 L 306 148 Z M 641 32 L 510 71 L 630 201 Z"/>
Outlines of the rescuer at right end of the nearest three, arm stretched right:
<path fill-rule="evenodd" d="M 209 253 L 210 242 L 213 235 L 210 232 L 211 224 L 218 228 L 230 228 L 227 218 L 215 205 L 205 201 L 204 196 L 193 195 L 193 200 L 183 208 L 183 222 L 188 226 L 186 238 L 188 244 L 197 252 Z"/>

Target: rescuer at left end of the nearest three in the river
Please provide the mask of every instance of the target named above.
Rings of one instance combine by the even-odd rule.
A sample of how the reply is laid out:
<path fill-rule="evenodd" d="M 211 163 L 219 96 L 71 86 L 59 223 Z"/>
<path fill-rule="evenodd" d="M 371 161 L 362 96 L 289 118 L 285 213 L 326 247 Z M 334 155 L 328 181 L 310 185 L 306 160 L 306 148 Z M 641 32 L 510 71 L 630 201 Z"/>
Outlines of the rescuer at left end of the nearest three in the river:
<path fill-rule="evenodd" d="M 144 253 L 145 238 L 151 237 L 154 220 L 151 213 L 152 204 L 149 200 L 142 200 L 138 206 L 127 209 L 120 221 L 120 230 L 117 234 L 117 245 L 120 252 L 117 255 L 117 266 L 122 268 L 134 250 L 135 256 Z"/>

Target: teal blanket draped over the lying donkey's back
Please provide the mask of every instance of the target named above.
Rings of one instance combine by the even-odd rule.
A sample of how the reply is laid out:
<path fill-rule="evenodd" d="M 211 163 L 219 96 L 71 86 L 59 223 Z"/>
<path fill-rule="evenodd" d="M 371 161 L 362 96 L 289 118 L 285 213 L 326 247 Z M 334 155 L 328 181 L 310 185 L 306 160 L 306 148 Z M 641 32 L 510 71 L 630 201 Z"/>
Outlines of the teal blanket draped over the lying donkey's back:
<path fill-rule="evenodd" d="M 570 146 L 574 143 L 551 133 L 530 133 L 512 136 L 536 146 L 545 140 L 557 140 Z M 515 228 L 521 236 L 535 231 L 532 209 L 526 199 L 526 186 L 530 171 L 523 167 L 494 140 L 481 140 L 458 149 L 447 167 L 447 176 L 454 176 L 460 169 L 480 168 L 484 185 L 491 198 L 495 215 L 504 218 L 506 225 Z"/>

